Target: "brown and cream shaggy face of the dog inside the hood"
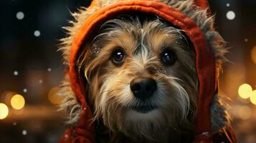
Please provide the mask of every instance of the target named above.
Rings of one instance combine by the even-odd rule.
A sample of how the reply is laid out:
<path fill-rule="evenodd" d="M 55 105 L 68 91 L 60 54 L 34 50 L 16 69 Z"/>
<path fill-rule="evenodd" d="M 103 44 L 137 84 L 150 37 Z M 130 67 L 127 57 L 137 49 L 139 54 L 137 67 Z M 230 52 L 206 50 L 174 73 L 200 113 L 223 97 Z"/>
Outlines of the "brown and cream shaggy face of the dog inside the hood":
<path fill-rule="evenodd" d="M 95 119 L 148 139 L 189 127 L 196 112 L 196 55 L 183 32 L 138 16 L 105 22 L 77 61 Z M 169 134 L 169 133 L 168 133 Z"/>

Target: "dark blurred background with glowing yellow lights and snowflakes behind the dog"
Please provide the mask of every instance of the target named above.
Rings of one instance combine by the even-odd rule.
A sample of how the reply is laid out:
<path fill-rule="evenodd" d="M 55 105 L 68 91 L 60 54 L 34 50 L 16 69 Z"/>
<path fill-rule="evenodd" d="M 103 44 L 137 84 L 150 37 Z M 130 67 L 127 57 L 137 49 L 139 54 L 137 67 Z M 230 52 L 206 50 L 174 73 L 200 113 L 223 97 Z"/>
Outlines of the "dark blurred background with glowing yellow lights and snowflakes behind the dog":
<path fill-rule="evenodd" d="M 256 142 L 256 1 L 210 0 L 216 27 L 230 49 L 220 77 L 241 143 Z M 0 1 L 0 142 L 58 142 L 65 119 L 57 112 L 65 67 L 58 39 L 70 11 L 89 0 Z"/>

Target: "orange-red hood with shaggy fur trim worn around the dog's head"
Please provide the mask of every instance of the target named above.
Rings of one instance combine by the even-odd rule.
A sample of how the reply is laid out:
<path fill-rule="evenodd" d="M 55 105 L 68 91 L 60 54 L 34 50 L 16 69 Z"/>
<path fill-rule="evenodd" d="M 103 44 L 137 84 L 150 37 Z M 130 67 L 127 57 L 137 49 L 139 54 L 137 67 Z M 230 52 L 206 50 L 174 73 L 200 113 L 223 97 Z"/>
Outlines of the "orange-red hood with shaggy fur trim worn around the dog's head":
<path fill-rule="evenodd" d="M 222 98 L 217 94 L 218 69 L 226 61 L 226 43 L 214 29 L 214 17 L 209 12 L 206 0 L 93 0 L 88 8 L 82 7 L 72 14 L 75 21 L 70 21 L 71 26 L 65 27 L 67 37 L 61 40 L 60 50 L 68 72 L 58 94 L 64 97 L 60 109 L 67 112 L 67 123 L 74 125 L 73 136 L 82 136 L 87 142 L 94 142 L 95 138 L 95 128 L 90 122 L 93 114 L 86 101 L 85 83 L 77 73 L 77 53 L 91 32 L 106 19 L 128 11 L 156 14 L 184 30 L 194 44 L 200 85 L 198 112 L 194 121 L 196 134 L 217 132 L 229 126 L 229 115 Z M 65 139 L 64 136 L 61 142 L 65 142 Z"/>

